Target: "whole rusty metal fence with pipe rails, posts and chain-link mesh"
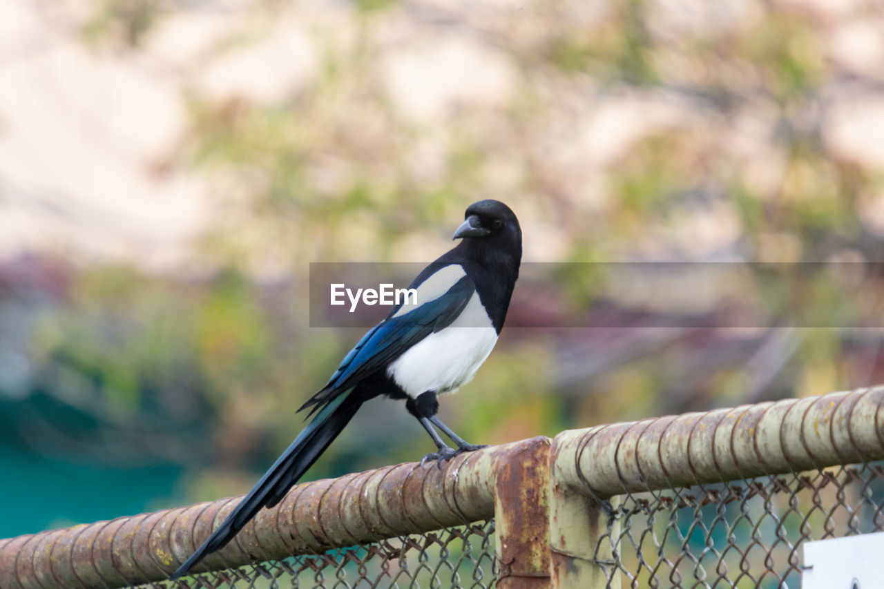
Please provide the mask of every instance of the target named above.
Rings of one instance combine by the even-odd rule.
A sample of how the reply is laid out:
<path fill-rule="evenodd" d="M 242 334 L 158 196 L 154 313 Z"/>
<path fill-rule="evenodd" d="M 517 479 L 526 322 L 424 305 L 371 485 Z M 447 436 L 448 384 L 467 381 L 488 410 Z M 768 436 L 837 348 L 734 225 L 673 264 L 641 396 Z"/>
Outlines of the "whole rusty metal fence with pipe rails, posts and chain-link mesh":
<path fill-rule="evenodd" d="M 805 540 L 884 529 L 882 411 L 873 388 L 306 483 L 177 585 L 239 497 L 0 539 L 0 587 L 797 586 Z"/>

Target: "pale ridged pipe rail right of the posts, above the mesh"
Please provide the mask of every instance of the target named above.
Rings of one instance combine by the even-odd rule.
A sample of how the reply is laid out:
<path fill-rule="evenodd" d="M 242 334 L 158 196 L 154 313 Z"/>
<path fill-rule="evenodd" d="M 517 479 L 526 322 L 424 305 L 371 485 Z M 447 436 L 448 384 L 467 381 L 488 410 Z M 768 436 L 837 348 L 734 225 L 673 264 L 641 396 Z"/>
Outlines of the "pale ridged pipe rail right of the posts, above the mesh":
<path fill-rule="evenodd" d="M 552 476 L 602 496 L 884 459 L 884 387 L 561 432 Z"/>

